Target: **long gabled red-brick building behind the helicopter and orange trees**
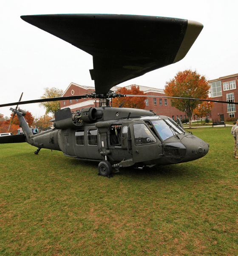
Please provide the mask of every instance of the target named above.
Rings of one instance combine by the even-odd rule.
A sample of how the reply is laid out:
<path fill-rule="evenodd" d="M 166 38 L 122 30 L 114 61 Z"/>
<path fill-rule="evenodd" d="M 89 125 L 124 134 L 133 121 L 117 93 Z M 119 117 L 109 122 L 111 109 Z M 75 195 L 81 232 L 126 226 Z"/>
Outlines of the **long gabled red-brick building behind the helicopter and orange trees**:
<path fill-rule="evenodd" d="M 131 85 L 127 86 L 130 88 Z M 156 96 L 156 97 L 148 97 L 146 100 L 146 110 L 153 110 L 153 112 L 158 115 L 170 116 L 174 120 L 185 119 L 185 112 L 179 111 L 178 109 L 171 107 L 170 99 L 162 98 L 160 96 L 165 96 L 165 93 L 161 89 L 156 89 L 152 87 L 140 86 L 140 90 L 143 90 L 144 93 L 148 96 Z M 82 86 L 79 84 L 71 83 L 68 88 L 63 93 L 63 96 L 71 96 L 71 95 L 84 95 L 85 93 L 91 93 L 95 89 L 94 87 Z M 112 87 L 113 91 L 118 90 L 118 87 Z M 98 103 L 97 103 L 98 104 Z M 98 106 L 98 105 L 97 105 Z M 86 108 L 86 107 L 95 107 L 94 99 L 72 99 L 65 100 L 60 102 L 60 108 L 71 108 L 72 112 L 76 112 L 78 109 Z M 195 118 L 195 117 L 194 117 Z"/>

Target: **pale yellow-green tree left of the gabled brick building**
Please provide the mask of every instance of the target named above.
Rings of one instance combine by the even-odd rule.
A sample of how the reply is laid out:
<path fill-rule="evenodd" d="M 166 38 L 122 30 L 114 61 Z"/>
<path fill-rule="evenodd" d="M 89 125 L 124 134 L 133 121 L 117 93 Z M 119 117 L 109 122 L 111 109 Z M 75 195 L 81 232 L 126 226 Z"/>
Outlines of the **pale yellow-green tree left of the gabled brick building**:
<path fill-rule="evenodd" d="M 48 99 L 48 98 L 56 98 L 61 97 L 63 94 L 63 90 L 57 89 L 55 87 L 52 88 L 44 88 L 45 93 L 40 97 L 40 99 Z M 45 114 L 48 113 L 54 114 L 56 111 L 60 110 L 60 102 L 54 101 L 54 102 L 41 102 L 40 106 L 45 108 Z"/>

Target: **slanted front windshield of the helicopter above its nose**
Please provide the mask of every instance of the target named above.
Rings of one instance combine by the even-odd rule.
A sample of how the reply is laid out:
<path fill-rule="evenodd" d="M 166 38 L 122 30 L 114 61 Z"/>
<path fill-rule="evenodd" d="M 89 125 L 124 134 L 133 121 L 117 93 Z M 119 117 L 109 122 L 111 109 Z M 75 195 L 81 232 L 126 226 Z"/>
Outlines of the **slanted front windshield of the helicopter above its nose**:
<path fill-rule="evenodd" d="M 166 140 L 167 138 L 175 134 L 182 133 L 182 131 L 173 122 L 171 122 L 170 119 L 151 120 L 151 121 L 162 140 Z"/>

